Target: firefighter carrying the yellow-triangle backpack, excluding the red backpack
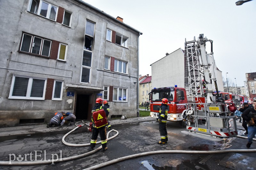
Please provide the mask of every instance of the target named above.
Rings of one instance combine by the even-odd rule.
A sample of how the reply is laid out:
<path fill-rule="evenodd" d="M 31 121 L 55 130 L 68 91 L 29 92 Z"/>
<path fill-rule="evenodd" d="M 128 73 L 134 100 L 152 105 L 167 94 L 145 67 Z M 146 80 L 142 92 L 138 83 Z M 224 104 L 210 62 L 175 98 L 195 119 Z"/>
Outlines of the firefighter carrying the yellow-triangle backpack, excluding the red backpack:
<path fill-rule="evenodd" d="M 96 120 L 93 119 L 93 113 L 96 112 L 96 111 L 99 111 L 101 109 L 103 109 L 105 111 L 105 113 L 106 113 L 105 116 L 108 117 L 108 110 L 106 108 L 102 107 L 102 102 L 103 102 L 102 98 L 97 98 L 96 102 L 95 102 L 95 105 L 92 108 L 92 122 L 93 122 L 93 127 L 92 128 L 93 128 L 93 130 L 92 130 L 91 144 L 90 144 L 90 147 L 88 148 L 88 151 L 92 151 L 93 148 L 95 147 L 99 133 L 100 133 L 100 140 L 101 140 L 102 150 L 106 151 L 108 149 L 108 147 L 107 147 L 107 132 L 106 132 L 106 125 L 107 124 L 105 124 L 101 127 L 99 126 L 97 128 L 97 126 L 95 125 Z M 107 121 L 106 121 L 106 123 L 107 123 Z"/>

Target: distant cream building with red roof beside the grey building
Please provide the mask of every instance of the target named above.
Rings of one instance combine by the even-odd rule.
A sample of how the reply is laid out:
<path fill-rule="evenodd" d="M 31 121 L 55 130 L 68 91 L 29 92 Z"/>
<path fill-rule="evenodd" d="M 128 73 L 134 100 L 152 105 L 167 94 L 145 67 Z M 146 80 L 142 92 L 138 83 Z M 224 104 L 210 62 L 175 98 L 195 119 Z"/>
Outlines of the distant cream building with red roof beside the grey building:
<path fill-rule="evenodd" d="M 151 86 L 151 76 L 148 74 L 146 76 L 143 76 L 143 80 L 140 81 L 139 85 L 139 103 L 141 104 L 142 102 L 149 102 L 149 95 L 148 93 L 151 91 L 152 86 Z"/>

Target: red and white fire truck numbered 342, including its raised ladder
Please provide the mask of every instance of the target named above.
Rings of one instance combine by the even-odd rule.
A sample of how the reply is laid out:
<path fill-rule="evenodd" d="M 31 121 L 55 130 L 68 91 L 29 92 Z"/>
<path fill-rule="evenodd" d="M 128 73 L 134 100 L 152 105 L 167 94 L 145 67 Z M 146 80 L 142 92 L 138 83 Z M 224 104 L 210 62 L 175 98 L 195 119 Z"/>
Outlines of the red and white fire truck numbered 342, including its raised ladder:
<path fill-rule="evenodd" d="M 211 53 L 206 53 L 206 42 L 211 43 Z M 149 94 L 150 116 L 158 117 L 161 99 L 167 98 L 168 121 L 185 124 L 188 131 L 228 138 L 237 135 L 237 128 L 234 114 L 228 115 L 227 109 L 234 112 L 236 107 L 232 103 L 227 107 L 218 92 L 212 42 L 204 34 L 200 34 L 197 40 L 195 37 L 192 41 L 185 39 L 185 88 L 152 89 Z M 213 64 L 210 63 L 209 55 Z M 210 67 L 213 67 L 212 71 Z M 215 86 L 216 94 L 212 86 Z"/>

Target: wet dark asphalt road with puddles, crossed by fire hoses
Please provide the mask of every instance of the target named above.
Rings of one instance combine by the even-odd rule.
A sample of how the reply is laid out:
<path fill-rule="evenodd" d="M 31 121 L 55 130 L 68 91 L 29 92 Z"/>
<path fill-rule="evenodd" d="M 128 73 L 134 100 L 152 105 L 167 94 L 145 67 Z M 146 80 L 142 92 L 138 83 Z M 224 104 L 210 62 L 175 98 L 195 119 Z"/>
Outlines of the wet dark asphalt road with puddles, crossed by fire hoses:
<path fill-rule="evenodd" d="M 113 129 L 118 131 L 116 138 L 108 141 L 108 150 L 101 150 L 75 160 L 59 162 L 45 165 L 28 166 L 0 166 L 0 169 L 86 169 L 99 165 L 110 160 L 122 158 L 151 151 L 180 150 L 180 151 L 212 151 L 227 149 L 246 149 L 246 139 L 228 138 L 213 140 L 208 138 L 198 138 L 183 133 L 184 128 L 178 123 L 167 122 L 167 131 L 169 136 L 168 144 L 158 145 L 160 139 L 158 123 L 155 121 L 141 122 L 137 124 L 115 125 Z M 64 145 L 61 142 L 65 131 L 52 133 L 39 133 L 29 136 L 19 136 L 17 138 L 1 139 L 0 160 L 10 161 L 14 157 L 18 158 L 22 154 L 23 160 L 30 159 L 48 160 L 67 158 L 74 155 L 80 155 L 87 152 L 88 147 L 72 147 Z M 239 132 L 243 133 L 243 131 Z M 115 135 L 111 132 L 109 137 Z M 68 135 L 65 140 L 68 143 L 85 144 L 89 143 L 91 132 L 87 128 L 78 128 Z M 98 141 L 100 138 L 98 138 Z M 100 145 L 97 145 L 100 146 Z M 256 146 L 252 145 L 252 149 Z M 37 156 L 35 156 L 37 155 Z M 40 155 L 40 156 L 39 156 Z M 102 167 L 104 170 L 123 170 L 123 169 L 202 169 L 202 170 L 227 170 L 227 169 L 253 169 L 252 165 L 256 158 L 255 152 L 230 152 L 230 153 L 161 153 L 146 155 L 134 159 L 124 160 L 109 166 Z M 10 162 L 12 163 L 12 162 Z M 51 163 L 51 162 L 50 162 Z M 253 163 L 255 164 L 255 163 Z"/>

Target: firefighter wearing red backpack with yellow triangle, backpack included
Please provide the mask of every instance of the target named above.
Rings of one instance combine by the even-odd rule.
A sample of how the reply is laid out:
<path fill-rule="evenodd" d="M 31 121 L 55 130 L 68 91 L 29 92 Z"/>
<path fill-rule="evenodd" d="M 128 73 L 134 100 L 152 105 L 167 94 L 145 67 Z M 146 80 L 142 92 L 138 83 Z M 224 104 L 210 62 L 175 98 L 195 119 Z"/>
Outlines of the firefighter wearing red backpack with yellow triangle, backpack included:
<path fill-rule="evenodd" d="M 108 110 L 102 107 L 102 98 L 97 98 L 94 107 L 92 108 L 92 122 L 93 122 L 93 130 L 92 130 L 92 138 L 91 144 L 88 148 L 88 151 L 92 151 L 96 145 L 98 135 L 100 133 L 100 140 L 102 145 L 102 150 L 106 151 L 107 147 L 107 132 L 106 125 L 108 124 Z"/>

